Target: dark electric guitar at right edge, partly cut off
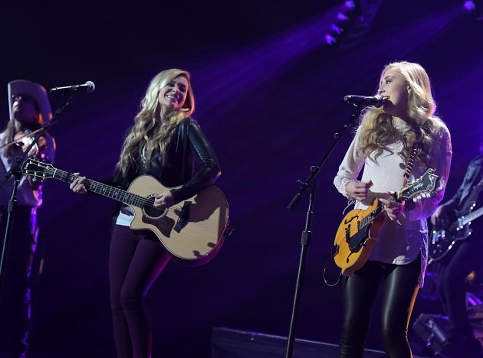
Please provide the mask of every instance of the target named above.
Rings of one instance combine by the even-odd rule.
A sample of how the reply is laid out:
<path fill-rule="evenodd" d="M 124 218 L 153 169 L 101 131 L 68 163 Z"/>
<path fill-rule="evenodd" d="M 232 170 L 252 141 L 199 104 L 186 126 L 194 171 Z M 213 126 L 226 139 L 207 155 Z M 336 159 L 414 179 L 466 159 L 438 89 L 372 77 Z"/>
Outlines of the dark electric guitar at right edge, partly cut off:
<path fill-rule="evenodd" d="M 471 205 L 470 212 L 457 212 L 457 219 L 446 228 L 438 228 L 431 232 L 429 238 L 428 254 L 429 264 L 442 259 L 451 250 L 458 240 L 466 239 L 471 235 L 470 224 L 473 220 L 483 215 L 483 208 L 471 211 L 475 204 Z"/>

